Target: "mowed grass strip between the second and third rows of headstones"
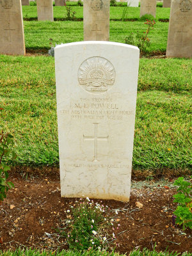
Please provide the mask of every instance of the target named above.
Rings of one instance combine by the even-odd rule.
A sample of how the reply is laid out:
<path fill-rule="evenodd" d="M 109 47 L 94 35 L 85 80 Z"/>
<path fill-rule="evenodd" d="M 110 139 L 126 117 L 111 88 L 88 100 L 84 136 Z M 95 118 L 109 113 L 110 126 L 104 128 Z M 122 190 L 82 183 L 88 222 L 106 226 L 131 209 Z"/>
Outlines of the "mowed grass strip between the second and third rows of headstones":
<path fill-rule="evenodd" d="M 125 43 L 131 33 L 143 33 L 147 29 L 145 22 L 110 22 L 110 38 L 112 42 Z M 27 51 L 30 49 L 50 49 L 52 44 L 66 44 L 83 41 L 83 22 L 73 21 L 24 21 L 25 42 Z M 150 47 L 147 52 L 165 52 L 168 36 L 168 22 L 156 22 L 150 31 Z"/>

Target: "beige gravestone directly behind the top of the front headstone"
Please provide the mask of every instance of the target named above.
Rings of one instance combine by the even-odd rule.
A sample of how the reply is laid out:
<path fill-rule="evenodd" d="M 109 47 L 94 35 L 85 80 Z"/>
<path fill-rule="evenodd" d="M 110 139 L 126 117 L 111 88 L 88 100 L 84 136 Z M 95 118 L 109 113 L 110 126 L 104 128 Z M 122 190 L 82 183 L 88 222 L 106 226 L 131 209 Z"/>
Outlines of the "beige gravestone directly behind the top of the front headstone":
<path fill-rule="evenodd" d="M 110 0 L 83 1 L 84 41 L 109 40 Z"/>

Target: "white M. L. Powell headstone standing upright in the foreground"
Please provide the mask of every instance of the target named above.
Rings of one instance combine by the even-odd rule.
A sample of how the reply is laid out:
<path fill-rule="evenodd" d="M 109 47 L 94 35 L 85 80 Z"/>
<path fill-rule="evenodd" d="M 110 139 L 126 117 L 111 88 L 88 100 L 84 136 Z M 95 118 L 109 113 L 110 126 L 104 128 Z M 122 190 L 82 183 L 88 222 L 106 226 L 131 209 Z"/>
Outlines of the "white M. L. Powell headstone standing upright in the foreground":
<path fill-rule="evenodd" d="M 61 196 L 129 201 L 139 58 L 114 42 L 56 47 Z"/>

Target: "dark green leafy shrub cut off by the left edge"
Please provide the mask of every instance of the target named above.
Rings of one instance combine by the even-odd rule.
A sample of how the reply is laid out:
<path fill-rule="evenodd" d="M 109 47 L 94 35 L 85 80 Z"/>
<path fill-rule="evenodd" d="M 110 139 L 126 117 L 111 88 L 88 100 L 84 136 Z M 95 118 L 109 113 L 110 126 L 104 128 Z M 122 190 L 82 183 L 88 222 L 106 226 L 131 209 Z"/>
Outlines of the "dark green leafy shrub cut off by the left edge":
<path fill-rule="evenodd" d="M 13 159 L 16 157 L 15 152 L 12 150 L 13 144 L 13 136 L 11 134 L 0 132 L 0 204 L 6 198 L 8 190 L 14 187 L 12 182 L 7 181 L 10 166 L 6 164 L 6 159 L 10 154 L 12 154 Z"/>

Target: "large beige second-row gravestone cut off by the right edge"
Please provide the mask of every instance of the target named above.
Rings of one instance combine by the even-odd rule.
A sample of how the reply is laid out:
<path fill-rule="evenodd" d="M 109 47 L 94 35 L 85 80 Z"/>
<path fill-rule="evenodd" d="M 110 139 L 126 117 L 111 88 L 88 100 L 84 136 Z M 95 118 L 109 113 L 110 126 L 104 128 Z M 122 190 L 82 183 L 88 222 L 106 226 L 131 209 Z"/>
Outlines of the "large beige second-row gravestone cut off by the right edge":
<path fill-rule="evenodd" d="M 192 56 L 192 3 L 191 0 L 172 0 L 167 57 Z"/>

